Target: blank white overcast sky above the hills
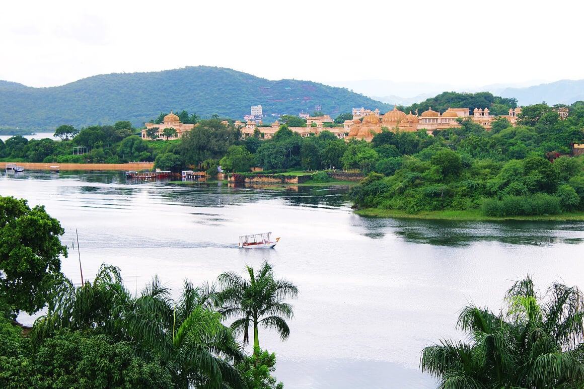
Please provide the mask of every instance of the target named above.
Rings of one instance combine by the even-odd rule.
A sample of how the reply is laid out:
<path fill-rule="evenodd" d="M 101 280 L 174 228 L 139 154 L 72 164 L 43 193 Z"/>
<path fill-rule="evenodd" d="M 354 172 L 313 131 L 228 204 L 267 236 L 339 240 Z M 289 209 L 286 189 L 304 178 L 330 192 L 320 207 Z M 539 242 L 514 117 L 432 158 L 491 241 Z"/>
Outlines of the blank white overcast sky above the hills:
<path fill-rule="evenodd" d="M 210 65 L 267 79 L 584 79 L 582 1 L 27 1 L 0 7 L 0 80 L 57 86 Z"/>

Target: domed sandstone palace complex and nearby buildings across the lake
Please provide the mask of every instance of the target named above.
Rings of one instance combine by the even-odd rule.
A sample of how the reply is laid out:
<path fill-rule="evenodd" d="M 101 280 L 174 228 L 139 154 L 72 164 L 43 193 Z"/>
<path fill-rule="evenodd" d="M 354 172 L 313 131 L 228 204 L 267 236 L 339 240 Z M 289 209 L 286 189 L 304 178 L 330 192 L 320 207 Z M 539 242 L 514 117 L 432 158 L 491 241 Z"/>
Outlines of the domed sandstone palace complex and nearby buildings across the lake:
<path fill-rule="evenodd" d="M 270 139 L 274 136 L 280 128 L 279 121 L 274 121 L 270 126 L 261 126 L 262 106 L 252 106 L 251 115 L 247 117 L 245 123 L 235 121 L 235 125 L 241 128 L 244 137 L 253 136 L 253 133 L 258 129 L 262 133 L 263 138 Z M 567 111 L 567 110 L 566 110 Z M 504 117 L 515 126 L 517 116 L 521 113 L 521 108 L 509 109 L 509 114 L 505 116 L 492 116 L 489 114 L 489 109 L 475 108 L 470 113 L 468 108 L 449 108 L 440 113 L 432 110 L 432 108 L 418 114 L 405 113 L 394 109 L 384 113 L 380 113 L 378 109 L 369 110 L 363 107 L 353 108 L 353 120 L 345 120 L 343 124 L 333 123 L 333 119 L 329 115 L 319 117 L 307 117 L 306 125 L 303 127 L 288 127 L 290 130 L 300 134 L 302 137 L 309 137 L 311 135 L 318 135 L 322 131 L 330 131 L 339 139 L 358 138 L 366 141 L 371 141 L 375 134 L 380 133 L 382 128 L 388 128 L 390 131 L 407 131 L 414 132 L 419 130 L 426 130 L 431 133 L 434 130 L 445 130 L 451 127 L 460 127 L 457 119 L 470 119 L 474 123 L 485 127 L 485 130 L 491 130 L 492 122 L 498 117 Z M 562 112 L 561 114 L 566 114 Z M 259 119 L 258 119 L 259 118 Z M 257 119 L 257 120 L 256 120 Z M 158 138 L 167 139 L 164 136 L 164 128 L 174 128 L 176 134 L 168 139 L 176 139 L 182 137 L 185 131 L 189 131 L 194 127 L 194 124 L 180 123 L 179 117 L 172 112 L 164 117 L 162 124 L 145 123 L 146 128 L 142 130 L 142 139 L 148 139 L 148 130 L 152 127 L 158 127 Z"/>

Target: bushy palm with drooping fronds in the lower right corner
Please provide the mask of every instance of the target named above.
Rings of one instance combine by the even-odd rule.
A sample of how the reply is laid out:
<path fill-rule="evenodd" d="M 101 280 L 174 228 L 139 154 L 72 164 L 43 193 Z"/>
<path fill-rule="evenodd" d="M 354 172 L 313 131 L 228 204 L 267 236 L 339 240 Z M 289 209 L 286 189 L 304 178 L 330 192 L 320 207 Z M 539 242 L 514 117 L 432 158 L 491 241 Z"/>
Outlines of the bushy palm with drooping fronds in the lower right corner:
<path fill-rule="evenodd" d="M 528 275 L 506 293 L 506 311 L 465 307 L 457 327 L 468 342 L 423 349 L 420 366 L 440 388 L 581 388 L 584 296 L 554 283 L 540 300 Z"/>

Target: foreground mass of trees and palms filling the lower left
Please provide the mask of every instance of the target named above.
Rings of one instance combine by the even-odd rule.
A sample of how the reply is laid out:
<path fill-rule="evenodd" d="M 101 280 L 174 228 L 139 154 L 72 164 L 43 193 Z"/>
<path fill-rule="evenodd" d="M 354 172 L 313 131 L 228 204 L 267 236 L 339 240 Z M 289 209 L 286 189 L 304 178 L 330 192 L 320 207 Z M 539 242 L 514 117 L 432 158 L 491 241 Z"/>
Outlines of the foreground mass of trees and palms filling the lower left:
<path fill-rule="evenodd" d="M 264 328 L 282 340 L 290 335 L 287 300 L 298 290 L 276 279 L 267 262 L 257 274 L 247 267 L 249 280 L 220 275 L 221 289 L 185 280 L 172 298 L 154 276 L 134 296 L 116 266 L 102 265 L 91 281 L 81 275 L 79 285 L 65 277 L 63 233 L 42 206 L 0 197 L 1 387 L 283 387 L 272 376 L 276 357 L 260 348 L 258 334 Z M 19 311 L 42 308 L 32 328 L 16 323 Z M 236 319 L 228 327 L 230 317 Z M 248 325 L 253 356 L 244 350 Z"/>

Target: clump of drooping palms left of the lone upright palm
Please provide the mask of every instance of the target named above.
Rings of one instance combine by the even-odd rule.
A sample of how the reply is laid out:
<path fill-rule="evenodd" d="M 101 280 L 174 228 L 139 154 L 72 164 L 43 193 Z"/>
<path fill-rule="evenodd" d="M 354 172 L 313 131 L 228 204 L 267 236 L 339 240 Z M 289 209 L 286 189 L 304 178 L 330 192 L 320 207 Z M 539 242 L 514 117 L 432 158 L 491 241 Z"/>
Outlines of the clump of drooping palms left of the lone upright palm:
<path fill-rule="evenodd" d="M 213 308 L 214 290 L 185 281 L 176 303 L 170 296 L 155 276 L 140 297 L 131 297 L 116 266 L 102 265 L 92 283 L 79 287 L 61 275 L 32 336 L 42 342 L 62 328 L 103 334 L 133 345 L 135 355 L 145 361 L 161 363 L 176 387 L 245 386 L 233 365 L 243 359 L 242 347 Z"/>

